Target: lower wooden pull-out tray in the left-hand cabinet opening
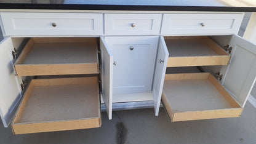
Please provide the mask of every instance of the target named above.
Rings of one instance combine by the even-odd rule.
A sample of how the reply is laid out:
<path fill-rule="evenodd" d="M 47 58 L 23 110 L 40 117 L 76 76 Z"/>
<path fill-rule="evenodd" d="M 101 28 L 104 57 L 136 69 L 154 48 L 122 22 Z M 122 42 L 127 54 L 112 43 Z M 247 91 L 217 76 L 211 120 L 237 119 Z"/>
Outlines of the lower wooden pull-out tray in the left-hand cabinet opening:
<path fill-rule="evenodd" d="M 12 122 L 14 134 L 101 126 L 97 77 L 32 79 Z"/>

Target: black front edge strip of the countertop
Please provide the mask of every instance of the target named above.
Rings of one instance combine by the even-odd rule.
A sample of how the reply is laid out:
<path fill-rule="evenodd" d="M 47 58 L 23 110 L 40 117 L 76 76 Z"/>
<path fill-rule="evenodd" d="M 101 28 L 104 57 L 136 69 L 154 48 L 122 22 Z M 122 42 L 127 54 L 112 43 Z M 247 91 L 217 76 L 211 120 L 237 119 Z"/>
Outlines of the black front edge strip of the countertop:
<path fill-rule="evenodd" d="M 105 4 L 9 4 L 1 3 L 0 9 L 44 10 L 139 10 L 139 11 L 207 11 L 207 12 L 256 12 L 256 7 L 226 6 L 135 6 Z"/>

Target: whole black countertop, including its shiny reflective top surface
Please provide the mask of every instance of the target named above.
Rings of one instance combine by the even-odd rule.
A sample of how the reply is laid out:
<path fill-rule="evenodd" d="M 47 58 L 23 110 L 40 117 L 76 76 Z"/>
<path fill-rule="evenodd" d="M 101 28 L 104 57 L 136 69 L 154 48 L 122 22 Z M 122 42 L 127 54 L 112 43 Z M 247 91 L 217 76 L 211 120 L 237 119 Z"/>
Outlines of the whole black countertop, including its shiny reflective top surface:
<path fill-rule="evenodd" d="M 256 12 L 256 0 L 1 0 L 0 9 Z"/>

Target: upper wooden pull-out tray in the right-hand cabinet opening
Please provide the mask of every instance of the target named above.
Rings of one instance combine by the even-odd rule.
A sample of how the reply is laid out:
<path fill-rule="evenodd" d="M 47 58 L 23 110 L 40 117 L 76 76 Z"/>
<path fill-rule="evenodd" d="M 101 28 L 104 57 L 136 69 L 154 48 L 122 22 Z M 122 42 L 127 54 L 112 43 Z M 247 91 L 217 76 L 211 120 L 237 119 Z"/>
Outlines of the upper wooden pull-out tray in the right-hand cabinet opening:
<path fill-rule="evenodd" d="M 230 55 L 207 36 L 165 37 L 167 67 L 228 65 Z"/>

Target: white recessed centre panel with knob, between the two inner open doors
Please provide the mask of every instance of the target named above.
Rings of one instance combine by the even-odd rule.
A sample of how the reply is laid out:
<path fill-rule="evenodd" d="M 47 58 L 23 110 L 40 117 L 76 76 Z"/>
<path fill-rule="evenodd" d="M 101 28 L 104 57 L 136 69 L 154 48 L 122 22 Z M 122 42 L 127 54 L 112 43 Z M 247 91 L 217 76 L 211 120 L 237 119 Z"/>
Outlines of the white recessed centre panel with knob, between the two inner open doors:
<path fill-rule="evenodd" d="M 158 37 L 107 37 L 113 50 L 113 94 L 150 92 Z"/>

